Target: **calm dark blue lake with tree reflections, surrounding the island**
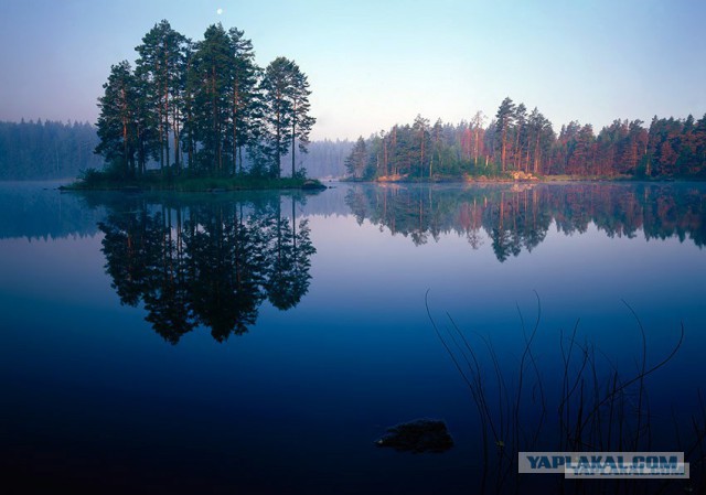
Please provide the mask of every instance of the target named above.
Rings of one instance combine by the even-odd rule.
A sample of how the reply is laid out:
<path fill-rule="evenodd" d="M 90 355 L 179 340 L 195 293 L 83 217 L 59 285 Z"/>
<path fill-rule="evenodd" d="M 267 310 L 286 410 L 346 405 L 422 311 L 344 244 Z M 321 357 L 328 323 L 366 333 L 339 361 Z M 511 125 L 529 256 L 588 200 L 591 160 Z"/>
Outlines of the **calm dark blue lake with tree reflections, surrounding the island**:
<path fill-rule="evenodd" d="M 330 185 L 0 184 L 3 493 L 514 493 L 569 483 L 517 450 L 698 456 L 705 185 Z M 419 418 L 453 448 L 376 445 Z"/>

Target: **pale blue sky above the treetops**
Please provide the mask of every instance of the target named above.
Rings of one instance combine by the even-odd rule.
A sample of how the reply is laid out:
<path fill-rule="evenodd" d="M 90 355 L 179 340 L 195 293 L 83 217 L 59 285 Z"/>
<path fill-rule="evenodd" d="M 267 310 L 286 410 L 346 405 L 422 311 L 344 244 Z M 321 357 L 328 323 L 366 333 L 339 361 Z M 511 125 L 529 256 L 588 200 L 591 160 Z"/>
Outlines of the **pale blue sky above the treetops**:
<path fill-rule="evenodd" d="M 193 40 L 244 30 L 263 67 L 297 62 L 312 139 L 490 119 L 506 96 L 555 130 L 706 114 L 703 0 L 0 0 L 0 120 L 95 122 L 110 65 L 162 19 Z"/>

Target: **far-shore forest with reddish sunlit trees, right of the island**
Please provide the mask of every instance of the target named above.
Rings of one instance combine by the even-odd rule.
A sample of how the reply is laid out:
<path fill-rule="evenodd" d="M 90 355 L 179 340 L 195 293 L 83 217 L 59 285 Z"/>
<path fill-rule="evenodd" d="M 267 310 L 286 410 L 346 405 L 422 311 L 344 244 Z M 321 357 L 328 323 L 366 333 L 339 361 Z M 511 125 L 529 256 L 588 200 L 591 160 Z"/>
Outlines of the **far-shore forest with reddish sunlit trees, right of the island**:
<path fill-rule="evenodd" d="M 445 176 L 534 175 L 706 177 L 706 116 L 695 120 L 614 120 L 598 136 L 591 125 L 571 121 L 558 134 L 535 107 L 505 98 L 494 118 L 413 123 L 359 138 L 345 160 L 361 180 Z"/>

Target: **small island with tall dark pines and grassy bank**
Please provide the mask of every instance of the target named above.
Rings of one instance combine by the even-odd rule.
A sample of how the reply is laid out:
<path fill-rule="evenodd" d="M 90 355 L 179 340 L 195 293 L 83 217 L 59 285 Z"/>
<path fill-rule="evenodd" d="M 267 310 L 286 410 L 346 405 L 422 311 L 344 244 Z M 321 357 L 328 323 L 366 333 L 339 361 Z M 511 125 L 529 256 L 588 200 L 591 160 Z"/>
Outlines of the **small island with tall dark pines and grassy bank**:
<path fill-rule="evenodd" d="M 67 189 L 325 189 L 297 169 L 315 118 L 293 61 L 257 66 L 252 41 L 220 23 L 192 41 L 163 20 L 136 51 L 135 68 L 113 65 L 98 98 L 104 170 L 83 172 Z"/>

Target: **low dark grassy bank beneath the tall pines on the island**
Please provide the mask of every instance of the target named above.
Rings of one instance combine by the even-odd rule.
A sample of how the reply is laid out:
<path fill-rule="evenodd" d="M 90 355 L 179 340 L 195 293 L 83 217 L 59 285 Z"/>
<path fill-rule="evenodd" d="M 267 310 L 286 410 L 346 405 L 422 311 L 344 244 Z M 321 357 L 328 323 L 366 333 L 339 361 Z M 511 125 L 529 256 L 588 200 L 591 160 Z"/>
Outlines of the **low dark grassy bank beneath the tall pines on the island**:
<path fill-rule="evenodd" d="M 258 176 L 197 176 L 171 175 L 149 172 L 140 177 L 118 177 L 106 172 L 89 170 L 65 190 L 72 191 L 175 191 L 175 192 L 226 192 L 249 190 L 323 190 L 315 179 L 258 177 Z"/>

